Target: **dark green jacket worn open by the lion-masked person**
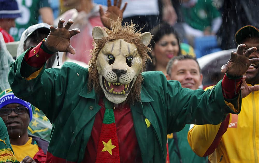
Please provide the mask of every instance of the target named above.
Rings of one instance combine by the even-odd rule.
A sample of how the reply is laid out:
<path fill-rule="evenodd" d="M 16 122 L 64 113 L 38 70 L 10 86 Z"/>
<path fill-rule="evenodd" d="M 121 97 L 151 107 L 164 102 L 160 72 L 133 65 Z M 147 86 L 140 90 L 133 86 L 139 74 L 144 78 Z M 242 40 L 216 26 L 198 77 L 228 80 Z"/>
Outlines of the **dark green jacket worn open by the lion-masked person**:
<path fill-rule="evenodd" d="M 36 78 L 25 80 L 22 76 L 35 71 L 23 61 L 25 53 L 11 65 L 8 81 L 13 93 L 41 109 L 53 124 L 48 152 L 81 162 L 101 108 L 99 95 L 88 91 L 88 69 L 70 62 L 61 69 L 44 66 Z M 178 81 L 167 81 L 162 72 L 142 76 L 141 102 L 130 106 L 143 163 L 166 162 L 167 134 L 182 130 L 186 123 L 219 124 L 227 113 L 236 114 L 224 102 L 221 82 L 205 92 L 182 88 Z M 237 98 L 231 101 L 237 106 Z M 151 127 L 147 128 L 145 118 Z"/>

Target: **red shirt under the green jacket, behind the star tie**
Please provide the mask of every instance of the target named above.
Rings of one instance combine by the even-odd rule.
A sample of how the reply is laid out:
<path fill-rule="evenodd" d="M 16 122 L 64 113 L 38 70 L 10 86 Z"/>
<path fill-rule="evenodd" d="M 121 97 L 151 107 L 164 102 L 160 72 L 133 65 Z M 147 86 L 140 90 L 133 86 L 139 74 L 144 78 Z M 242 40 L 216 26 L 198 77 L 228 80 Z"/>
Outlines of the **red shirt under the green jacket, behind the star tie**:
<path fill-rule="evenodd" d="M 83 162 L 95 163 L 99 136 L 101 133 L 105 107 L 99 100 L 101 109 L 95 115 L 91 136 L 88 140 Z M 113 110 L 119 142 L 120 162 L 142 162 L 138 140 L 134 130 L 131 109 L 128 104 Z"/>

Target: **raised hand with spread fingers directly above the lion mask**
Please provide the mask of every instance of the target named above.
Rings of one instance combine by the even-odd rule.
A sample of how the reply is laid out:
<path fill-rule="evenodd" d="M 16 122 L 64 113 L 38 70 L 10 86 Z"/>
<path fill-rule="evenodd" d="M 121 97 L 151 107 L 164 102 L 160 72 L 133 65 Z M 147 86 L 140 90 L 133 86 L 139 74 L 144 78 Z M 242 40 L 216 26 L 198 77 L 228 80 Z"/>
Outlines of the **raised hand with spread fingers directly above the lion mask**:
<path fill-rule="evenodd" d="M 111 5 L 111 0 L 107 0 L 107 11 L 104 12 L 102 6 L 100 5 L 100 17 L 102 20 L 103 25 L 106 28 L 111 28 L 111 22 L 110 19 L 116 21 L 118 18 L 123 18 L 123 12 L 126 9 L 127 2 L 124 4 L 123 8 L 120 9 L 121 6 L 121 0 L 114 0 L 113 6 Z"/>

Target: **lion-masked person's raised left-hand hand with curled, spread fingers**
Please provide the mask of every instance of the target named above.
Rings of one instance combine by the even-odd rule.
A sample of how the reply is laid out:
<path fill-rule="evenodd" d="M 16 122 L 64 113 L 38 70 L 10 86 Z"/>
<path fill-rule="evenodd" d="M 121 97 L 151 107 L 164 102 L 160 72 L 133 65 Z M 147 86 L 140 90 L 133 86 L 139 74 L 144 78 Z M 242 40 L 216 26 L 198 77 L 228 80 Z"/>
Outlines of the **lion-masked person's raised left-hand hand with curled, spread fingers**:
<path fill-rule="evenodd" d="M 60 51 L 75 54 L 75 49 L 70 45 L 70 38 L 80 33 L 80 29 L 69 30 L 70 26 L 74 23 L 71 19 L 68 20 L 65 26 L 63 26 L 64 22 L 64 19 L 60 19 L 57 28 L 50 26 L 51 32 L 44 44 L 52 52 Z"/>

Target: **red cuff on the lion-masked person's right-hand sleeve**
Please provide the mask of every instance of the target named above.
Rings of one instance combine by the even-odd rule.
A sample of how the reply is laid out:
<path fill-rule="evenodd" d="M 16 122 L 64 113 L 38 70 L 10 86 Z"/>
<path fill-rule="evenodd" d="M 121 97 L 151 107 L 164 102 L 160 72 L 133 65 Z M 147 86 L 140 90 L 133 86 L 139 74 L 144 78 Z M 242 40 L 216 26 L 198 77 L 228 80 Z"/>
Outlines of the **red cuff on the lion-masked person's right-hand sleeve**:
<path fill-rule="evenodd" d="M 222 86 L 222 93 L 225 99 L 233 99 L 237 96 L 238 92 L 240 91 L 241 84 L 242 84 L 243 77 L 239 79 L 230 79 L 224 76 L 221 86 Z M 235 80 L 236 80 L 236 88 L 235 88 Z M 235 94 L 236 90 L 236 94 Z"/>

